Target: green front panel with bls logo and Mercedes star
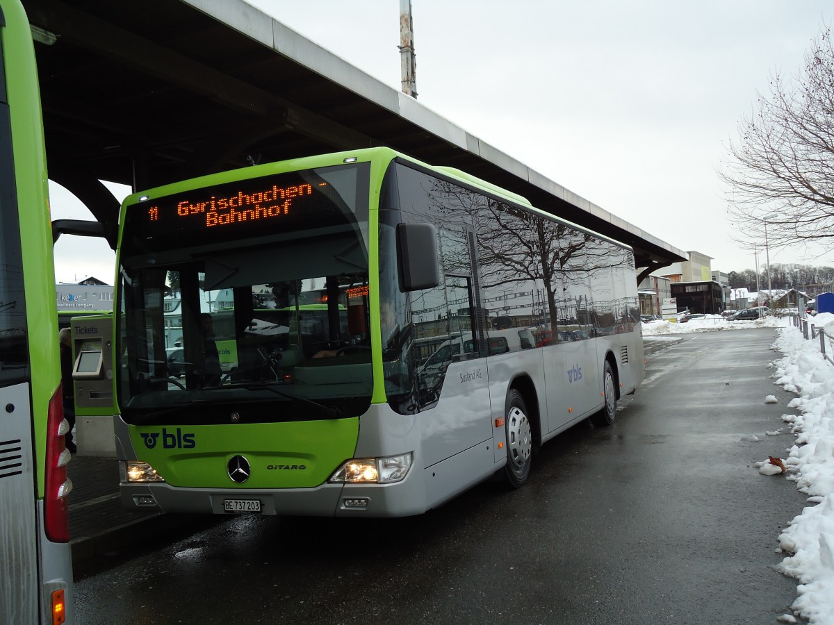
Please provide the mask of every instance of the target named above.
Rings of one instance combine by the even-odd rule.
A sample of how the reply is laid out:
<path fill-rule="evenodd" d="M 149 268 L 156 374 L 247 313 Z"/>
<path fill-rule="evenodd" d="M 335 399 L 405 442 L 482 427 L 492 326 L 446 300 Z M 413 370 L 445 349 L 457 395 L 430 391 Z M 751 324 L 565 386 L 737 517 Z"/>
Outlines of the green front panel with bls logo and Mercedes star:
<path fill-rule="evenodd" d="M 358 437 L 359 418 L 130 428 L 137 458 L 182 488 L 314 488 L 353 458 Z M 251 466 L 243 484 L 227 473 L 239 454 Z"/>

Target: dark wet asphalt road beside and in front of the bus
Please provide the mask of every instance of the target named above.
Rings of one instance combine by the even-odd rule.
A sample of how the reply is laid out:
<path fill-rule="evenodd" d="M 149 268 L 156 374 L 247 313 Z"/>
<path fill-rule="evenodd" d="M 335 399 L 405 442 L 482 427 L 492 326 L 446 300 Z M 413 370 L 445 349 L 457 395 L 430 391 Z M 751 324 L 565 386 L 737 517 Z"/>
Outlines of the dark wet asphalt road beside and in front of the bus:
<path fill-rule="evenodd" d="M 771 568 L 777 538 L 805 502 L 754 464 L 793 441 L 775 338 L 691 334 L 651 354 L 615 424 L 547 443 L 517 492 L 481 484 L 422 517 L 138 535 L 77 571 L 78 622 L 775 624 L 796 598 Z"/>

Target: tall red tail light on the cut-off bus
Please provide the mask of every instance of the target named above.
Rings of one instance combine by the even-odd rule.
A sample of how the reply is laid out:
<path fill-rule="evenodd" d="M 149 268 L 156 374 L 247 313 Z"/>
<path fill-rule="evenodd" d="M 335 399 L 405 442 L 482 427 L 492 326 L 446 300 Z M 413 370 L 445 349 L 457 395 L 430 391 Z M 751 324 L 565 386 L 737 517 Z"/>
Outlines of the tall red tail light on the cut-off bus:
<path fill-rule="evenodd" d="M 64 438 L 69 423 L 63 418 L 61 385 L 49 400 L 47 416 L 46 493 L 43 498 L 43 531 L 52 542 L 69 542 L 69 503 L 73 483 L 67 475 L 72 458 Z"/>

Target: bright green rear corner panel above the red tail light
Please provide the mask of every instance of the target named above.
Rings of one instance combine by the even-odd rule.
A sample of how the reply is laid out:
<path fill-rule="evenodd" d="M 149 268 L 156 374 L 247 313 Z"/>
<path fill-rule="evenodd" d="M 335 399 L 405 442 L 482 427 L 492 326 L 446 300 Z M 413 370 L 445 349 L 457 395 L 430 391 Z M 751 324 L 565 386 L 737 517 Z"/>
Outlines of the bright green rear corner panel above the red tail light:
<path fill-rule="evenodd" d="M 7 28 L 3 57 L 12 122 L 14 175 L 18 190 L 38 498 L 43 498 L 49 399 L 61 382 L 58 356 L 58 307 L 55 304 L 52 220 L 49 216 L 47 160 L 43 143 L 41 98 L 32 32 L 20 2 L 3 2 Z"/>

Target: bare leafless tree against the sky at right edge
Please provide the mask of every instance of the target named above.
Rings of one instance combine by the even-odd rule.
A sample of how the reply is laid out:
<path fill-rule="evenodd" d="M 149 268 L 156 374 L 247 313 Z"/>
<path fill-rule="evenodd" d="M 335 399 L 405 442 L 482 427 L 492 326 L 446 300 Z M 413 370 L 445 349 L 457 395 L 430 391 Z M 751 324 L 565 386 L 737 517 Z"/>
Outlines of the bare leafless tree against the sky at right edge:
<path fill-rule="evenodd" d="M 721 171 L 740 243 L 834 249 L 834 46 L 821 32 L 795 77 L 776 74 L 768 97 L 739 122 Z"/>

